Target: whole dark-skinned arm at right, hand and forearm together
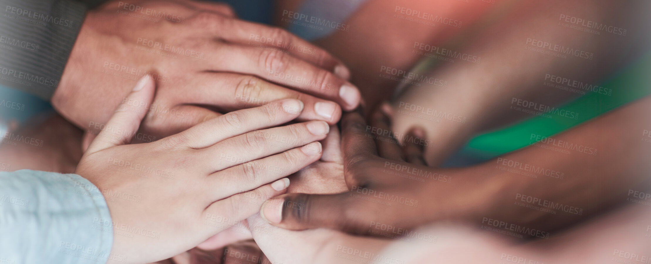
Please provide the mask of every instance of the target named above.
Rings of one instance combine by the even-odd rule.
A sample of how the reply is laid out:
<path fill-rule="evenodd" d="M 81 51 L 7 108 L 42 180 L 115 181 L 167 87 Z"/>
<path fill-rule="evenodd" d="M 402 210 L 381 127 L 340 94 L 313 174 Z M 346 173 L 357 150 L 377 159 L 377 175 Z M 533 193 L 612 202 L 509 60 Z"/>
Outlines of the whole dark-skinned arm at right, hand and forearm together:
<path fill-rule="evenodd" d="M 651 155 L 651 148 L 639 141 L 644 127 L 651 127 L 650 111 L 651 98 L 640 99 L 552 137 L 555 142 L 589 146 L 598 150 L 597 155 L 576 150 L 568 157 L 549 155 L 551 150 L 529 146 L 467 168 L 431 168 L 404 161 L 399 155 L 383 157 L 386 153 L 399 153 L 400 147 L 378 140 L 376 134 L 368 132 L 360 114 L 348 113 L 342 120 L 342 150 L 344 176 L 350 191 L 327 195 L 283 194 L 266 204 L 284 206 L 263 206 L 262 210 L 267 220 L 279 220 L 275 226 L 291 230 L 326 227 L 374 234 L 368 228 L 373 222 L 411 229 L 437 220 L 461 220 L 482 226 L 498 220 L 542 231 L 523 237 L 545 237 L 551 231 L 625 202 L 631 189 L 648 188 L 651 167 L 646 157 Z M 376 118 L 376 124 L 382 119 Z M 393 150 L 378 151 L 382 148 Z M 564 173 L 564 178 L 544 174 L 531 178 L 507 172 L 499 168 L 508 166 L 503 165 L 505 160 L 551 168 Z M 518 198 L 522 195 L 571 205 L 576 210 L 557 210 L 557 214 L 552 214 L 514 204 L 521 202 Z M 271 217 L 273 214 L 281 215 Z"/>

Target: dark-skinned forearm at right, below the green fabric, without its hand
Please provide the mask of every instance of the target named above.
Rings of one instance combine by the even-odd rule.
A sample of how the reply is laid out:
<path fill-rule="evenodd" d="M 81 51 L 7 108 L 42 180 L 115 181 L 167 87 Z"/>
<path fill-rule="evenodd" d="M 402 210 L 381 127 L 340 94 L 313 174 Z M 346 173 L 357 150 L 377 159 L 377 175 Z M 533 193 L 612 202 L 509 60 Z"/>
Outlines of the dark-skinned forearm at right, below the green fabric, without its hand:
<path fill-rule="evenodd" d="M 547 139 L 532 133 L 532 146 L 477 166 L 495 183 L 477 217 L 553 230 L 645 191 L 650 111 L 644 98 Z"/>

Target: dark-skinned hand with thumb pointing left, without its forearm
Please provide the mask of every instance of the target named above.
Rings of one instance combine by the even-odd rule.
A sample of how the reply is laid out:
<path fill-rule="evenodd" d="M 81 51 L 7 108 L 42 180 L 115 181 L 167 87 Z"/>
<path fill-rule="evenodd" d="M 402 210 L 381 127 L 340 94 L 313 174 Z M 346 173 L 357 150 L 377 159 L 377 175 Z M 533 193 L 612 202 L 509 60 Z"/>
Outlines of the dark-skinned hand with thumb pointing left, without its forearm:
<path fill-rule="evenodd" d="M 271 224 L 290 230 L 326 227 L 383 235 L 376 225 L 413 228 L 434 220 L 474 219 L 482 212 L 482 201 L 495 191 L 484 183 L 490 178 L 475 168 L 424 166 L 424 146 L 411 143 L 401 149 L 395 139 L 373 132 L 388 127 L 383 114 L 374 114 L 369 126 L 357 112 L 344 114 L 344 176 L 350 191 L 283 194 L 268 200 L 261 214 Z"/>

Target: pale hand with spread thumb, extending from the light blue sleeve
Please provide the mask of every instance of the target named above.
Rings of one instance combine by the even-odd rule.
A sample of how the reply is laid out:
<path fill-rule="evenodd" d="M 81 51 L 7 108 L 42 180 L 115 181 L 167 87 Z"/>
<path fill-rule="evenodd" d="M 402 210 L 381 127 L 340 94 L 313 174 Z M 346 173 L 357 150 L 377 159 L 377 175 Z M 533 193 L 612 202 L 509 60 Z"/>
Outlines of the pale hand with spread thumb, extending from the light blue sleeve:
<path fill-rule="evenodd" d="M 150 102 L 153 96 L 154 82 L 145 77 L 128 99 Z M 275 127 L 303 109 L 301 101 L 284 99 L 155 142 L 126 144 L 145 116 L 141 108 L 122 103 L 76 170 L 108 196 L 116 234 L 124 227 L 146 231 L 115 235 L 111 253 L 128 263 L 174 256 L 256 213 L 285 191 L 288 179 L 280 178 L 320 158 L 321 144 L 314 141 L 329 129 L 323 121 Z M 256 131 L 265 127 L 273 128 Z M 93 224 L 111 226 L 106 221 Z"/>

